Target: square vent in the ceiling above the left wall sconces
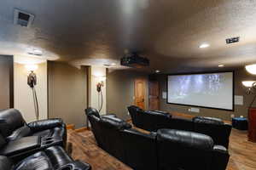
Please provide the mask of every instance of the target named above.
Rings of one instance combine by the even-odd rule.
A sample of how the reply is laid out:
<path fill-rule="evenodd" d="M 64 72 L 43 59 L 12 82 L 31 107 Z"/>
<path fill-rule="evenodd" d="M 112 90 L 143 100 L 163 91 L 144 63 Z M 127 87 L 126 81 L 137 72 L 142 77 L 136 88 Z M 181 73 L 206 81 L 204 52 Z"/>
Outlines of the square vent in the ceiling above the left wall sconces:
<path fill-rule="evenodd" d="M 32 25 L 32 21 L 34 20 L 34 15 L 28 14 L 17 8 L 15 8 L 14 16 L 15 16 L 14 24 L 19 26 L 29 27 Z"/>

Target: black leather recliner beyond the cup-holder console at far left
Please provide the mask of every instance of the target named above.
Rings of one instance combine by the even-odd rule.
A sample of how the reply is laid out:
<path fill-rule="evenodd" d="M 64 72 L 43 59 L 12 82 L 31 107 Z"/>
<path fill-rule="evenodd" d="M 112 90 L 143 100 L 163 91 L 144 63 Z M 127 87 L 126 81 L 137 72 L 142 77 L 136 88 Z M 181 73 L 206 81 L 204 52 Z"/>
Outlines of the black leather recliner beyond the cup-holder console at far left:
<path fill-rule="evenodd" d="M 0 111 L 0 133 L 7 142 L 27 136 L 61 138 L 67 141 L 66 125 L 61 119 L 49 119 L 26 123 L 20 111 L 8 109 Z"/>

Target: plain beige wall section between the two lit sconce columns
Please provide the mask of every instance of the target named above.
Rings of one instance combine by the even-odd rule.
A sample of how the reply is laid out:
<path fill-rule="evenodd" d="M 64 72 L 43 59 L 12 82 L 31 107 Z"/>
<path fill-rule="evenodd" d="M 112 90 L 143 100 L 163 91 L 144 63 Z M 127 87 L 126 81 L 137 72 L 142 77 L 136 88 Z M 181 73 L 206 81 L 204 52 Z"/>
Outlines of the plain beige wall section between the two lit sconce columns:
<path fill-rule="evenodd" d="M 61 117 L 76 128 L 84 127 L 86 99 L 86 67 L 81 69 L 61 62 L 48 62 L 49 118 Z"/>

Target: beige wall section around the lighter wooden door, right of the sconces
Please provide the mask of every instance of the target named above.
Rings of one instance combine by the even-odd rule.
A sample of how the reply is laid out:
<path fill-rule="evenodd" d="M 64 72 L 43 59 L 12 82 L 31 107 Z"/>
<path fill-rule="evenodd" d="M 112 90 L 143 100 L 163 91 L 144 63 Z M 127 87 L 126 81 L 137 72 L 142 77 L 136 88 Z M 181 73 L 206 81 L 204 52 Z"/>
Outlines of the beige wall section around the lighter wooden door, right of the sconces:
<path fill-rule="evenodd" d="M 127 106 L 133 105 L 134 80 L 143 78 L 146 83 L 145 107 L 148 109 L 148 75 L 137 71 L 108 71 L 107 74 L 107 112 L 122 119 L 130 119 Z"/>

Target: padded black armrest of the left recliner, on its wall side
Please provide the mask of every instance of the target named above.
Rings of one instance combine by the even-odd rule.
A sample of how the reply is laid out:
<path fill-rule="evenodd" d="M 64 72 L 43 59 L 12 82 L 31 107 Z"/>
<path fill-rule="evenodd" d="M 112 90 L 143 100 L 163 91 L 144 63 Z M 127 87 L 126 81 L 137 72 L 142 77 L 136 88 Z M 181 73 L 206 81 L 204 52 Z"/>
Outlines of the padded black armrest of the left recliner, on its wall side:
<path fill-rule="evenodd" d="M 38 132 L 46 129 L 51 129 L 54 127 L 65 127 L 65 123 L 62 122 L 61 119 L 47 119 L 42 121 L 30 122 L 27 124 L 28 127 L 32 130 L 32 132 Z"/>

